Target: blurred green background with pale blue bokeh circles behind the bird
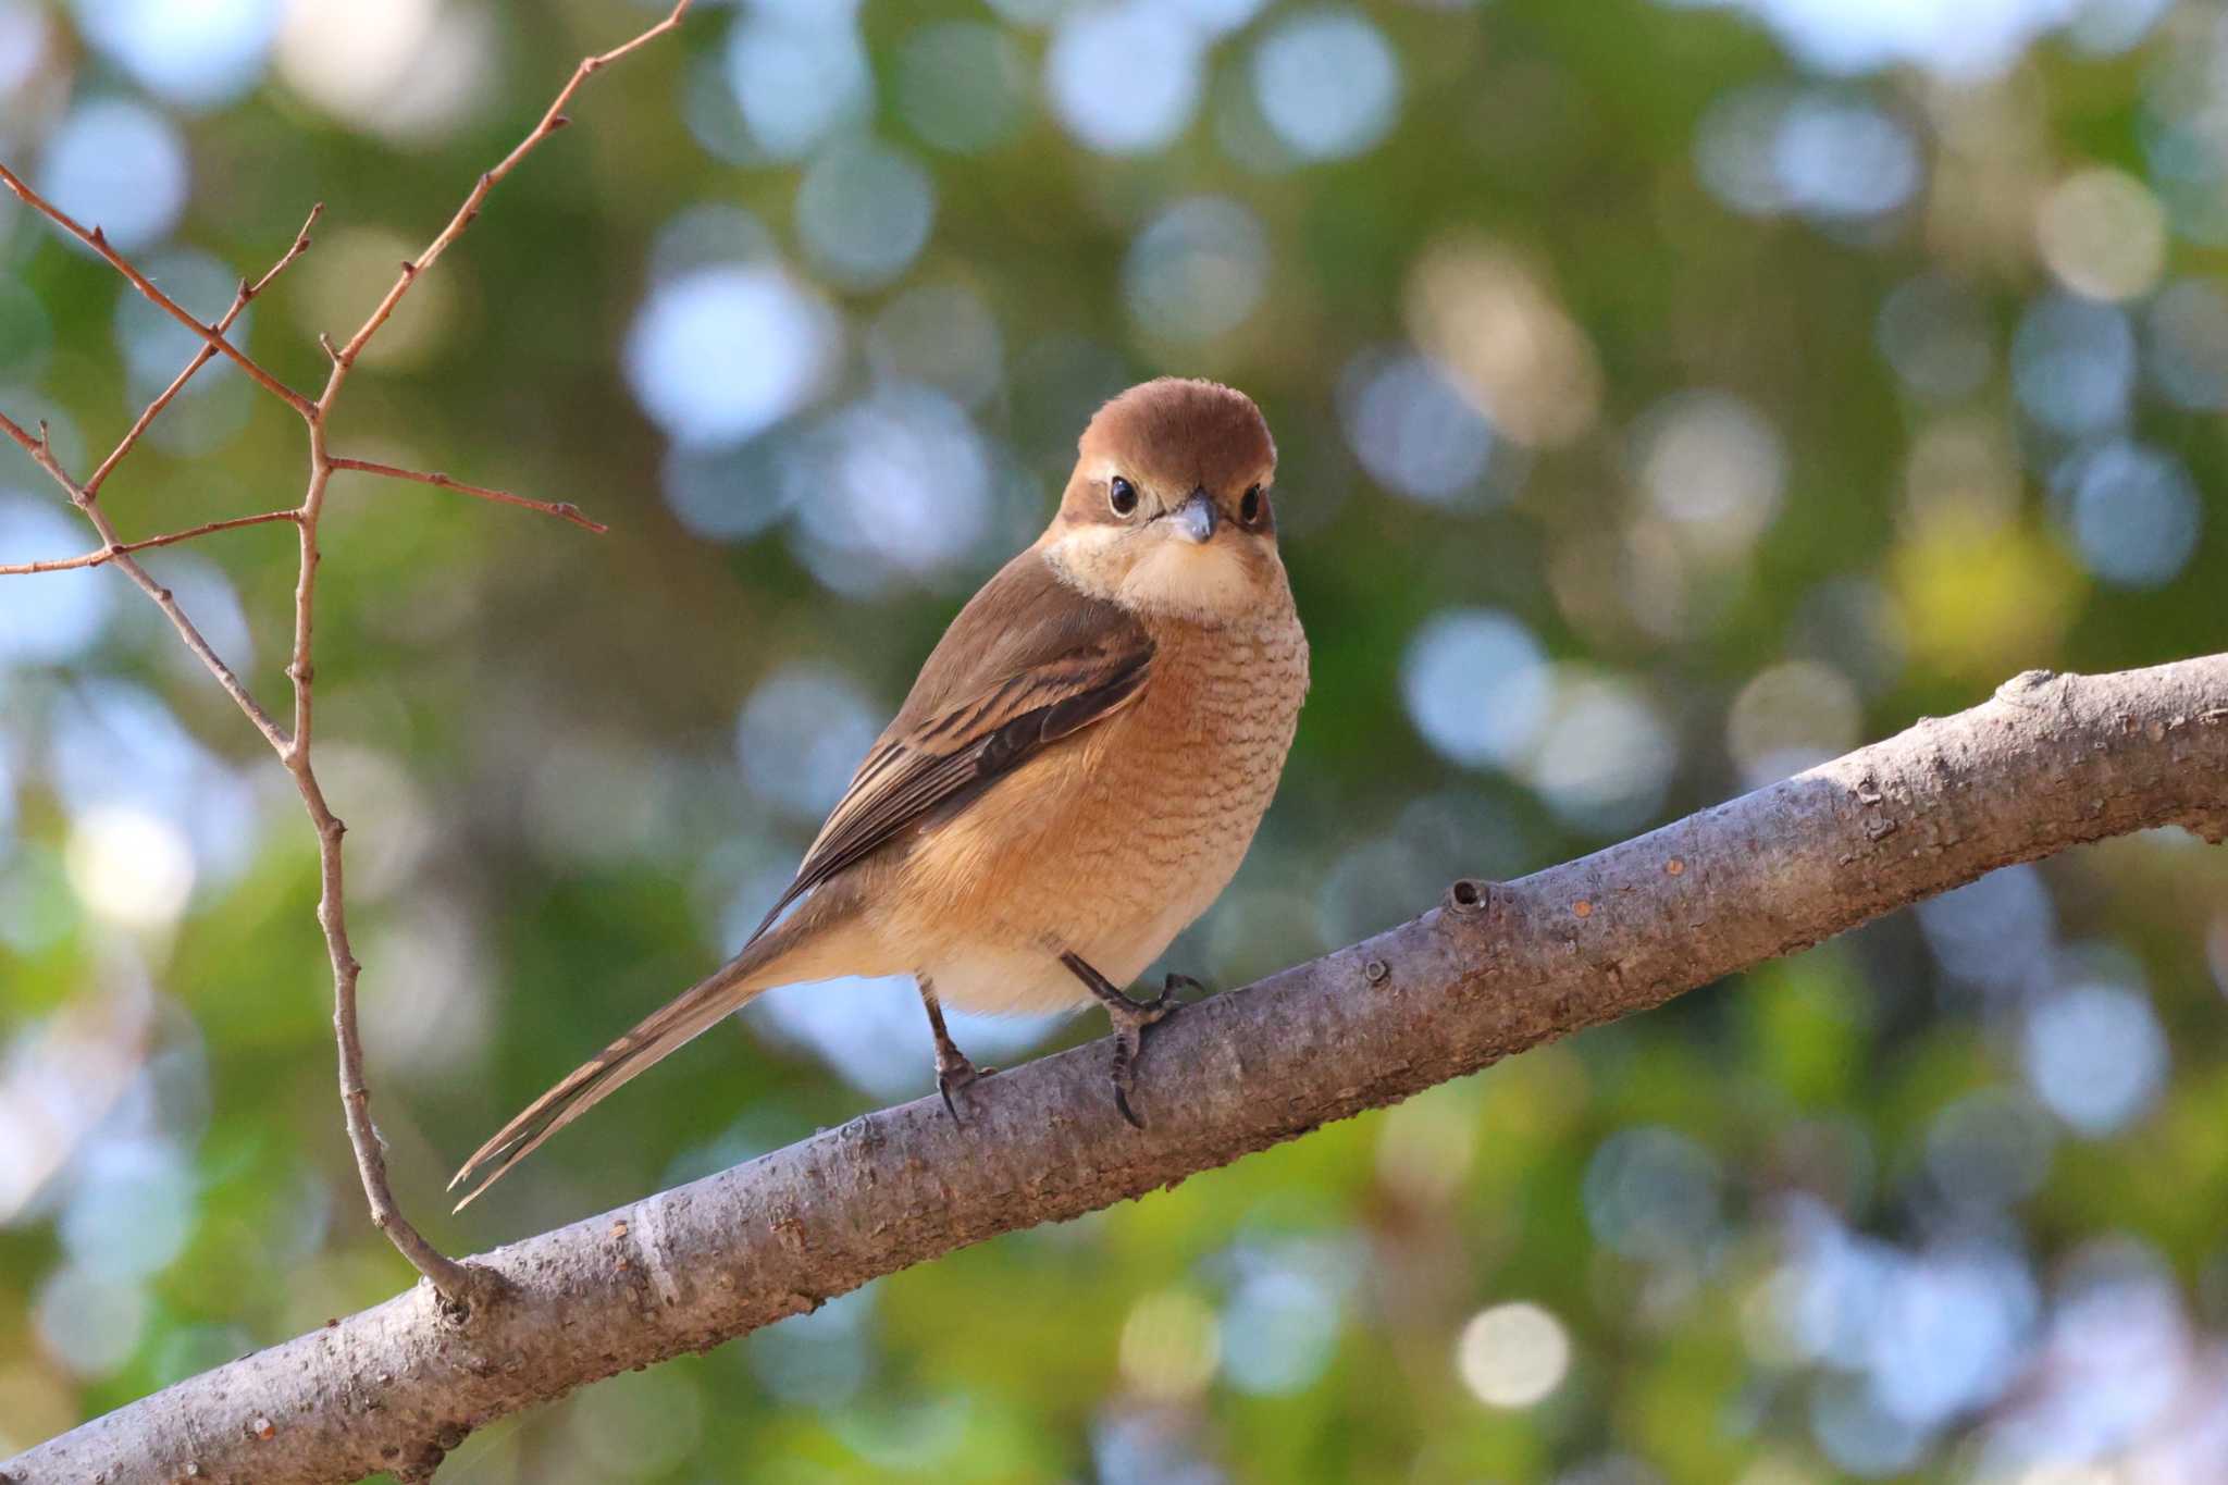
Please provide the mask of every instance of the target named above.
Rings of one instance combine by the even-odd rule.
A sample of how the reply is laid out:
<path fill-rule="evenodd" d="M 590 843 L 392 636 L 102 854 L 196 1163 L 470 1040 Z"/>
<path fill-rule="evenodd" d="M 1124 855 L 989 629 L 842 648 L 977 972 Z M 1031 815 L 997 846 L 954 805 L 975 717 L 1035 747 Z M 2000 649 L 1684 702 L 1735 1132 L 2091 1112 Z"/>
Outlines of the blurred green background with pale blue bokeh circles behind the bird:
<path fill-rule="evenodd" d="M 0 0 L 0 158 L 316 385 L 624 0 Z M 397 1191 L 452 1251 L 929 1086 L 766 997 L 466 1220 L 457 1160 L 731 951 L 1130 381 L 1283 445 L 1283 793 L 1232 986 L 1983 699 L 2224 646 L 2228 11 L 702 4 L 374 341 L 319 759 Z M 192 354 L 0 200 L 80 474 Z M 127 537 L 299 499 L 218 365 Z M 0 450 L 0 561 L 89 530 Z M 292 539 L 154 552 L 283 697 Z M 0 579 L 0 1449 L 385 1298 L 314 842 L 114 572 Z M 2170 1485 L 2228 1458 L 2228 853 L 2012 868 L 1415 1102 L 472 1436 L 457 1485 Z M 1096 1035 L 974 1022 L 978 1060 Z"/>

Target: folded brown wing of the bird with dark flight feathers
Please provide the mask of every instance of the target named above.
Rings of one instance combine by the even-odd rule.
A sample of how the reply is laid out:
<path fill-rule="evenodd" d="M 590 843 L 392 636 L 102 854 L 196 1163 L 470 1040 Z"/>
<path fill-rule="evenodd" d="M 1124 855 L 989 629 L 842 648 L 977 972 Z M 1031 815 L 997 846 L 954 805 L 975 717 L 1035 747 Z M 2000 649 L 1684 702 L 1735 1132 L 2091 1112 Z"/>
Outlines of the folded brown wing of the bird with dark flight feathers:
<path fill-rule="evenodd" d="M 931 813 L 1136 701 L 1152 650 L 1127 612 L 1061 583 L 1036 550 L 1016 557 L 945 630 L 758 933 Z"/>

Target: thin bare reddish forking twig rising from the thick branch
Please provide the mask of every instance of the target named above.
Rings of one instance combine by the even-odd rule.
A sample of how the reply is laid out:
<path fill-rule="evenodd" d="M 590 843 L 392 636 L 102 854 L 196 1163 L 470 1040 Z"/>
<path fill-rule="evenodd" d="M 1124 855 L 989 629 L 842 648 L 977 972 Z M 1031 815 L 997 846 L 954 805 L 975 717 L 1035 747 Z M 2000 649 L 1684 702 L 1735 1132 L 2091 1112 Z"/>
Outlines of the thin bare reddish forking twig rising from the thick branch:
<path fill-rule="evenodd" d="M 345 835 L 348 826 L 343 826 L 341 819 L 332 813 L 332 806 L 325 799 L 325 790 L 316 779 L 316 768 L 312 766 L 314 715 L 316 715 L 314 688 L 312 688 L 316 675 L 314 672 L 316 568 L 321 561 L 321 552 L 316 545 L 316 530 L 319 521 L 325 514 L 325 492 L 332 483 L 334 470 L 356 470 L 365 474 L 381 474 L 388 479 L 408 479 L 428 485 L 439 485 L 443 490 L 457 490 L 461 494 L 472 494 L 486 501 L 499 501 L 506 505 L 539 510 L 544 514 L 570 521 L 593 532 L 602 532 L 606 528 L 584 517 L 570 503 L 532 501 L 526 496 L 508 494 L 504 490 L 468 485 L 463 481 L 450 479 L 448 474 L 421 474 L 414 470 L 401 470 L 394 465 L 370 463 L 361 459 L 334 459 L 332 452 L 325 448 L 325 427 L 332 407 L 341 396 L 341 387 L 348 383 L 348 374 L 356 363 L 356 356 L 361 356 L 363 347 L 372 341 L 374 334 L 379 334 L 379 327 L 388 323 L 388 316 L 394 314 L 394 305 L 401 303 L 401 296 L 410 289 L 412 283 L 417 283 L 419 274 L 432 267 L 432 263 L 448 249 L 448 245 L 455 243 L 457 236 L 461 236 L 463 229 L 472 223 L 472 218 L 479 216 L 479 207 L 486 200 L 488 191 L 495 189 L 495 183 L 508 176 L 519 165 L 519 160 L 524 160 L 535 149 L 535 145 L 539 145 L 544 138 L 548 138 L 568 122 L 561 109 L 590 76 L 595 76 L 602 67 L 617 62 L 637 47 L 648 45 L 657 36 L 673 31 L 682 22 L 682 16 L 688 11 L 688 4 L 691 0 L 680 0 L 664 20 L 648 27 L 626 45 L 584 58 L 582 65 L 573 71 L 573 78 L 557 91 L 557 98 L 541 114 L 541 120 L 532 127 L 532 131 L 524 140 L 519 140 L 519 145 L 508 156 L 504 156 L 495 169 L 490 169 L 475 183 L 472 191 L 466 196 L 463 205 L 450 218 L 448 227 L 441 229 L 441 234 L 426 247 L 426 252 L 419 254 L 414 263 L 403 265 L 401 278 L 394 283 L 394 287 L 388 289 L 388 294 L 379 301 L 379 305 L 363 321 L 363 325 L 356 327 L 356 334 L 352 334 L 348 343 L 339 347 L 332 343 L 332 336 L 328 334 L 319 336 L 319 345 L 325 350 L 325 356 L 330 358 L 332 367 L 325 376 L 325 390 L 316 396 L 316 401 L 310 401 L 307 396 L 303 396 L 294 387 L 287 387 L 276 376 L 256 365 L 245 352 L 241 352 L 225 338 L 225 332 L 234 325 L 234 321 L 238 321 L 247 303 L 310 247 L 310 227 L 316 223 L 316 216 L 319 212 L 323 212 L 323 205 L 310 212 L 310 220 L 303 223 L 303 229 L 299 234 L 294 234 L 294 245 L 285 252 L 285 256 L 278 258 L 278 263 L 274 263 L 272 269 L 263 274 L 263 278 L 258 278 L 256 283 L 243 281 L 238 294 L 232 301 L 232 307 L 216 325 L 203 325 L 183 307 L 178 307 L 176 301 L 163 294 L 163 289 L 158 289 L 145 274 L 140 274 L 123 254 L 118 254 L 109 245 L 107 236 L 100 232 L 98 225 L 96 227 L 80 225 L 69 214 L 60 212 L 53 203 L 49 203 L 45 196 L 25 185 L 20 176 L 0 165 L 0 183 L 4 183 L 11 191 L 16 191 L 16 196 L 22 198 L 25 205 L 40 212 L 58 227 L 62 227 L 67 234 L 71 234 L 74 238 L 91 247 L 96 254 L 100 254 L 140 294 L 160 305 L 167 314 L 172 314 L 180 323 L 189 325 L 203 338 L 203 347 L 196 352 L 194 361 L 189 361 L 187 367 L 178 372 L 178 376 L 169 383 L 169 387 L 165 387 L 160 396 L 156 396 L 154 403 L 147 405 L 147 410 L 138 416 L 138 421 L 134 421 L 134 425 L 118 441 L 116 450 L 109 452 L 109 456 L 100 463 L 100 468 L 94 470 L 94 476 L 82 485 L 69 479 L 69 474 L 53 459 L 53 452 L 47 448 L 45 430 L 40 432 L 38 439 L 33 439 L 20 425 L 7 423 L 7 432 L 18 443 L 22 443 L 31 452 L 31 456 L 38 459 L 38 463 L 49 474 L 53 474 L 53 479 L 62 483 L 62 488 L 69 492 L 69 499 L 87 514 L 87 519 L 94 523 L 94 530 L 100 534 L 102 545 L 98 552 L 87 552 L 85 557 L 0 568 L 0 574 L 56 572 L 65 568 L 91 568 L 91 566 L 123 568 L 127 574 L 131 574 L 131 581 L 145 588 L 147 594 L 163 606 L 163 610 L 172 617 L 172 623 L 178 626 L 178 632 L 187 641 L 187 648 L 192 648 L 194 655 L 201 657 L 201 661 L 212 670 L 212 675 L 216 675 L 216 679 L 225 686 L 232 699 L 238 701 L 238 706 L 256 724 L 256 730 L 261 730 L 265 741 L 270 741 L 272 748 L 278 753 L 278 759 L 285 766 L 287 775 L 292 775 L 294 788 L 301 795 L 303 808 L 307 810 L 310 822 L 316 826 L 316 837 L 319 837 L 316 922 L 325 931 L 325 948 L 332 960 L 332 997 L 334 997 L 332 1029 L 339 1051 L 341 1109 L 348 1122 L 348 1142 L 356 1155 L 356 1173 L 363 1180 L 363 1196 L 365 1202 L 370 1204 L 372 1222 L 388 1233 L 388 1240 L 394 1242 L 397 1251 L 401 1251 L 403 1258 L 408 1258 L 419 1269 L 419 1273 L 432 1280 L 441 1300 L 452 1307 L 468 1309 L 475 1300 L 492 1294 L 497 1280 L 486 1269 L 459 1265 L 457 1260 L 446 1258 L 408 1222 L 408 1218 L 401 1213 L 401 1207 L 394 1202 L 394 1193 L 388 1184 L 385 1153 L 381 1151 L 379 1131 L 372 1127 L 368 1113 L 372 1095 L 363 1078 L 363 1044 L 356 1031 L 356 980 L 361 975 L 361 964 L 356 962 L 356 955 L 348 942 L 348 908 L 345 908 L 343 871 L 341 871 L 341 837 Z M 100 510 L 96 501 L 100 483 L 131 452 L 131 448 L 138 443 L 147 425 L 154 423 L 156 416 L 160 416 L 163 407 L 167 407 L 172 399 L 176 399 L 178 392 L 185 387 L 185 383 L 192 381 L 194 374 L 203 365 L 207 365 L 214 356 L 229 356 L 234 363 L 241 365 L 241 370 L 254 376 L 267 392 L 285 401 L 290 407 L 294 407 L 294 412 L 303 416 L 310 436 L 310 481 L 303 490 L 301 505 L 287 512 L 214 521 L 209 525 L 174 532 L 169 537 L 152 537 L 147 541 L 125 543 L 116 537 L 114 525 L 109 525 L 107 514 Z M 296 543 L 301 552 L 301 563 L 294 579 L 294 643 L 287 657 L 287 679 L 292 681 L 294 690 L 292 728 L 281 728 L 256 704 L 256 699 L 247 692 L 241 679 L 223 663 L 223 659 L 218 659 L 218 655 L 207 646 L 201 632 L 194 630 L 185 612 L 172 599 L 169 590 L 154 583 L 154 579 L 149 579 L 145 570 L 131 559 L 131 552 L 138 548 L 169 545 L 176 541 L 205 537 L 209 532 L 229 530 L 236 525 L 261 525 L 270 521 L 292 521 L 296 528 Z"/>

